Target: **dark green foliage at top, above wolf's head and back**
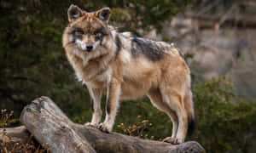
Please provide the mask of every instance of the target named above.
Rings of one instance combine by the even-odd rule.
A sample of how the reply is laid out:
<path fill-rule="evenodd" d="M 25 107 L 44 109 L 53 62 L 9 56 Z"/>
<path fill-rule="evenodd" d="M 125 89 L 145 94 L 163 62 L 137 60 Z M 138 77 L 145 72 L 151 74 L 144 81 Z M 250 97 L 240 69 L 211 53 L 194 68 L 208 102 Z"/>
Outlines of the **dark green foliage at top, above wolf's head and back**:
<path fill-rule="evenodd" d="M 189 3 L 190 0 L 94 0 L 82 6 L 90 11 L 108 6 L 113 10 L 111 21 L 118 21 L 121 30 L 137 33 L 138 30 L 148 31 L 152 27 L 160 31 L 164 21 L 188 8 Z"/>

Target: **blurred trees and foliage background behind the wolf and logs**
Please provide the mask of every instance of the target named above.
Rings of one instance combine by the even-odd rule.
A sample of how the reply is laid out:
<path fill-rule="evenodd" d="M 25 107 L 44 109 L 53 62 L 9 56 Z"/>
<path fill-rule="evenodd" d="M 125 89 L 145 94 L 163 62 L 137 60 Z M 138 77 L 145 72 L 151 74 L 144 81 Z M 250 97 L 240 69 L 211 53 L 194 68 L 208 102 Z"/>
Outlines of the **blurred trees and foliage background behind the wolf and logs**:
<path fill-rule="evenodd" d="M 197 116 L 195 134 L 187 140 L 207 152 L 254 152 L 254 0 L 1 0 L 0 110 L 15 112 L 8 126 L 19 125 L 23 107 L 42 95 L 73 122 L 90 121 L 87 88 L 75 79 L 61 45 L 71 3 L 86 11 L 108 6 L 110 24 L 119 31 L 181 48 L 192 71 Z M 171 135 L 171 120 L 148 98 L 121 103 L 115 132 L 131 134 L 143 125 L 131 135 L 156 140 Z"/>

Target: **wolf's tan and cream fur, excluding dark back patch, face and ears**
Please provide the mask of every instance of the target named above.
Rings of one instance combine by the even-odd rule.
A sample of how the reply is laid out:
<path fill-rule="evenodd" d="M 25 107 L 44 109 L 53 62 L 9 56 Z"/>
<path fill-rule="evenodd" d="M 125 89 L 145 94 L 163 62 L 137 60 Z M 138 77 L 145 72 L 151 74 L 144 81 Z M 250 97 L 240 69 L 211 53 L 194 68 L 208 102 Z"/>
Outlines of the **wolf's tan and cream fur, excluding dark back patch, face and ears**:
<path fill-rule="evenodd" d="M 116 55 L 117 45 L 113 38 L 118 32 L 108 27 L 108 20 L 103 22 L 98 19 L 99 11 L 83 11 L 78 19 L 69 23 L 62 39 L 67 59 L 94 99 L 95 112 L 89 124 L 98 125 L 100 122 L 102 94 L 107 95 L 110 107 L 105 122 L 98 125 L 102 131 L 112 130 L 119 99 L 137 99 L 148 95 L 152 104 L 172 119 L 172 137 L 166 141 L 183 143 L 188 130 L 188 117 L 194 117 L 188 65 L 178 50 L 165 42 L 159 42 L 166 49 L 164 56 L 158 61 L 151 61 L 144 56 L 132 57 L 131 36 L 128 33 L 119 35 L 122 47 Z M 108 36 L 102 47 L 85 53 L 68 40 L 68 33 L 73 26 L 84 31 L 95 31 L 99 26 L 104 26 L 108 30 Z M 91 43 L 88 38 L 83 40 Z"/>

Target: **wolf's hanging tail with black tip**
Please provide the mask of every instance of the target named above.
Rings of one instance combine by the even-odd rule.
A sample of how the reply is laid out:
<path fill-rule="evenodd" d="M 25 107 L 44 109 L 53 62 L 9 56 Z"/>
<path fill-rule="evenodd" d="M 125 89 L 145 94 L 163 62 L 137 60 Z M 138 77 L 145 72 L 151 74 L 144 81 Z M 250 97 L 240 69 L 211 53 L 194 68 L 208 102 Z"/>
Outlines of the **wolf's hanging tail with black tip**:
<path fill-rule="evenodd" d="M 185 109 L 187 111 L 188 120 L 189 120 L 187 135 L 191 136 L 195 131 L 195 108 L 194 108 L 193 96 L 190 90 L 185 96 L 184 102 L 185 102 L 184 105 L 185 105 Z"/>

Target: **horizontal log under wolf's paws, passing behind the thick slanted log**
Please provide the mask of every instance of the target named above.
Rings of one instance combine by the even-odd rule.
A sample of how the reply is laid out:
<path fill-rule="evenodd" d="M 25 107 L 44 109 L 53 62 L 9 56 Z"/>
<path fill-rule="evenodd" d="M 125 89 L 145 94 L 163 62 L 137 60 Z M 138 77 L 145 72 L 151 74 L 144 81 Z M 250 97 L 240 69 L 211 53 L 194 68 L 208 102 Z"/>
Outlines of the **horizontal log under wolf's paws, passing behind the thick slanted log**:
<path fill-rule="evenodd" d="M 159 142 L 157 148 L 154 148 L 154 144 L 157 141 L 145 140 L 141 142 L 140 140 L 130 136 L 126 136 L 119 133 L 101 133 L 94 127 L 85 127 L 82 125 L 73 125 L 76 130 L 83 131 L 81 132 L 82 137 L 87 137 L 90 144 L 96 150 L 96 152 L 142 152 L 142 150 L 147 150 L 147 152 L 170 152 L 170 153 L 178 153 L 178 152 L 204 152 L 201 148 L 201 145 L 196 143 L 195 141 L 189 141 L 184 144 L 167 146 L 172 144 L 166 144 Z M 3 129 L 0 129 L 0 133 L 3 132 Z M 29 141 L 31 133 L 29 133 L 25 126 L 20 127 L 9 127 L 6 128 L 6 138 L 5 143 L 10 146 L 17 143 L 26 144 Z M 89 137 L 88 137 L 89 136 Z M 0 142 L 3 137 L 0 137 Z M 120 142 L 118 142 L 120 141 Z M 130 146 L 130 144 L 136 144 L 135 146 Z M 146 144 L 146 145 L 144 145 Z M 143 146 L 141 146 L 143 145 Z M 163 148 L 160 148 L 160 146 Z M 140 148 L 142 147 L 142 148 Z M 8 147 L 11 148 L 11 147 Z M 153 149 L 152 149 L 153 148 Z M 0 146 L 1 149 L 1 146 Z M 160 149 L 160 150 L 159 150 Z M 22 151 L 20 151 L 22 152 Z"/>

